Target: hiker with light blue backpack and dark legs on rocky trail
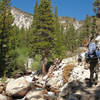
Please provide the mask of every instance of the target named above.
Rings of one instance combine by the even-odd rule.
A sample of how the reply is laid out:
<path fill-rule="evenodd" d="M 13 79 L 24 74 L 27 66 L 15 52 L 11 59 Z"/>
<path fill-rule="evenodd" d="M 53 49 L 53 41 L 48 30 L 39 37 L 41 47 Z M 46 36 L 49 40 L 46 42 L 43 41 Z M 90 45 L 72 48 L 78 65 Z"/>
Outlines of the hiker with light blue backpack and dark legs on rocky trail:
<path fill-rule="evenodd" d="M 88 53 L 85 53 L 86 62 L 90 64 L 89 86 L 92 86 L 93 84 L 97 84 L 97 80 L 98 80 L 98 71 L 99 71 L 98 61 L 100 60 L 100 55 L 99 55 L 100 53 L 97 50 L 97 48 L 98 47 L 96 45 L 96 42 L 92 38 L 88 45 Z"/>

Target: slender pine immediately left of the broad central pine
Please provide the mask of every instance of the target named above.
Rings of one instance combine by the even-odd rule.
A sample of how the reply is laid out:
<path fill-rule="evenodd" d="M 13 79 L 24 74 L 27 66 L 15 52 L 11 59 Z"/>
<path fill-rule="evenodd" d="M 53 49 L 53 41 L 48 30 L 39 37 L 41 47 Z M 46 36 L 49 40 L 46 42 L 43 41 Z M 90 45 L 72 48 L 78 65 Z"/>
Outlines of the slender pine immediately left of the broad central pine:
<path fill-rule="evenodd" d="M 36 50 L 35 50 L 33 43 L 34 43 L 35 38 L 37 36 L 38 21 L 39 21 L 39 18 L 38 18 L 38 0 L 36 0 L 35 7 L 34 7 L 32 25 L 31 25 L 30 29 L 28 30 L 29 34 L 30 34 L 29 35 L 29 49 L 30 49 L 29 55 L 30 55 L 30 57 L 33 57 L 36 54 Z"/>

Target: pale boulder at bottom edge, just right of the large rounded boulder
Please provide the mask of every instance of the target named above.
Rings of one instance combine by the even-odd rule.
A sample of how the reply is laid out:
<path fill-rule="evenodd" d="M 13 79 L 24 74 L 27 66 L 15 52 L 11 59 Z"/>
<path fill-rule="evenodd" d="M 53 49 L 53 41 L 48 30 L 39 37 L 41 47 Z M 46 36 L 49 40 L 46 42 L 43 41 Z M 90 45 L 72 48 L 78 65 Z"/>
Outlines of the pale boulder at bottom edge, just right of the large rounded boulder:
<path fill-rule="evenodd" d="M 44 100 L 41 96 L 42 89 L 33 89 L 29 91 L 26 96 L 25 100 Z"/>

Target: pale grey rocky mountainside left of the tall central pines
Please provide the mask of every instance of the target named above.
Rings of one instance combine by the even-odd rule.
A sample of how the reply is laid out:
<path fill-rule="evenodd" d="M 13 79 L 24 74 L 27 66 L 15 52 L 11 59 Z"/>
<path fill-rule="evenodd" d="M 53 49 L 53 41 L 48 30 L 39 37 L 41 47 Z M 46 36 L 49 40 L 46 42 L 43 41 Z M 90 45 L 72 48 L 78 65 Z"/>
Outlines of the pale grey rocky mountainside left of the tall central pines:
<path fill-rule="evenodd" d="M 33 16 L 26 12 L 21 11 L 18 8 L 12 7 L 11 13 L 14 17 L 14 24 L 16 24 L 19 28 L 24 27 L 28 29 L 32 23 Z"/>

